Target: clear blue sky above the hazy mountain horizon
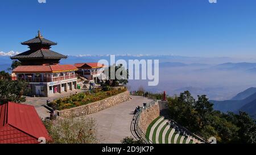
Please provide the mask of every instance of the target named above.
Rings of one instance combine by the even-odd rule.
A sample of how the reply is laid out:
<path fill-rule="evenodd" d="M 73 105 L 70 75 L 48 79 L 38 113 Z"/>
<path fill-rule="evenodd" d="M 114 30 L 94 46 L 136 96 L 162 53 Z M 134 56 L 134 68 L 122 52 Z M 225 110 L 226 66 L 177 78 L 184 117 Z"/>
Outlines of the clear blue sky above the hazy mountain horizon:
<path fill-rule="evenodd" d="M 9 0 L 0 3 L 0 51 L 38 29 L 65 55 L 256 57 L 255 0 Z"/>

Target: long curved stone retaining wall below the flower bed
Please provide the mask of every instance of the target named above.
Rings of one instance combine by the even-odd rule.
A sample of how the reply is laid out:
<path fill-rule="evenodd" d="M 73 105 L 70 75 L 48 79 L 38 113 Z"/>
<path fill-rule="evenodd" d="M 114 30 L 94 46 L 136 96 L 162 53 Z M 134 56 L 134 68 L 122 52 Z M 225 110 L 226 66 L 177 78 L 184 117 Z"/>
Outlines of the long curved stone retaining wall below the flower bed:
<path fill-rule="evenodd" d="M 103 100 L 99 100 L 97 102 L 58 111 L 58 114 L 60 117 L 63 117 L 63 118 L 71 118 L 73 116 L 78 117 L 78 116 L 93 114 L 98 111 L 101 111 L 106 108 L 125 102 L 129 99 L 130 99 L 129 91 L 125 91 L 124 93 L 121 93 Z"/>

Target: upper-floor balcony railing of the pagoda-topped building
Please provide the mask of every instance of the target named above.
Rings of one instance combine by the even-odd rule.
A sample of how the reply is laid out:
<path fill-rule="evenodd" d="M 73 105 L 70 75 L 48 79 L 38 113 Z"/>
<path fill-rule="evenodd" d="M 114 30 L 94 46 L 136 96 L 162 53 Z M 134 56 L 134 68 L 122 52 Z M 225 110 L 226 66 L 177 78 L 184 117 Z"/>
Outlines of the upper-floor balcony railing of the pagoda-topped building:
<path fill-rule="evenodd" d="M 61 80 L 65 80 L 65 79 L 72 79 L 72 78 L 76 78 L 75 75 L 72 76 L 63 76 L 63 77 L 43 77 L 43 78 L 18 78 L 18 80 L 24 80 L 27 82 L 55 82 L 55 81 L 61 81 Z"/>

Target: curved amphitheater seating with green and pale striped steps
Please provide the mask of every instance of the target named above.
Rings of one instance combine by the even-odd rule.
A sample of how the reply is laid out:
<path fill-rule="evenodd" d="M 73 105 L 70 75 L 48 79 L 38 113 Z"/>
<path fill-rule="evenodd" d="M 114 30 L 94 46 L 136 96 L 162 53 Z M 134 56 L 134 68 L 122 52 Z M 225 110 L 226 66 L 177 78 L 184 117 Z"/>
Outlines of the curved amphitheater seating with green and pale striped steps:
<path fill-rule="evenodd" d="M 154 144 L 200 144 L 201 141 L 192 136 L 183 136 L 171 128 L 167 119 L 159 116 L 148 126 L 146 138 Z"/>

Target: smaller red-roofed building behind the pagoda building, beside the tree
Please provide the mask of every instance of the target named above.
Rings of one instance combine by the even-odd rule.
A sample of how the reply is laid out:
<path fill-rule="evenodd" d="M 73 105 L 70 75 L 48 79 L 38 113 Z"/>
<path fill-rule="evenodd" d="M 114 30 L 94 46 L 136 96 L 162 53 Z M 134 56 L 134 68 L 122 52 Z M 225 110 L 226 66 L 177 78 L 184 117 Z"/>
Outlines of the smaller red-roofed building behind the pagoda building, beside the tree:
<path fill-rule="evenodd" d="M 100 80 L 105 80 L 104 75 L 105 65 L 97 62 L 89 63 L 77 63 L 75 64 L 76 68 L 79 69 L 77 73 L 81 76 L 87 78 L 88 80 L 94 80 L 95 83 L 98 83 Z"/>

